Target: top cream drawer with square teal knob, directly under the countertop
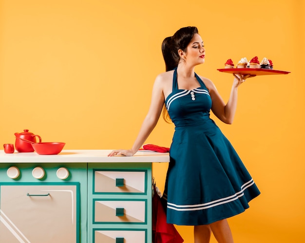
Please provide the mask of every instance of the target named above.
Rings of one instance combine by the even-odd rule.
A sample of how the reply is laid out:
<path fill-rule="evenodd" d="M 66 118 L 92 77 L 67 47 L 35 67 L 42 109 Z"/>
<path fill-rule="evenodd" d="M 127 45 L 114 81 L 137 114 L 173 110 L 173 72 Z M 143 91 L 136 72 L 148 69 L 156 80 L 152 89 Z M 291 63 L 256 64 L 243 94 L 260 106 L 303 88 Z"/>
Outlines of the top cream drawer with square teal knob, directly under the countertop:
<path fill-rule="evenodd" d="M 93 170 L 94 194 L 146 194 L 147 171 Z"/>

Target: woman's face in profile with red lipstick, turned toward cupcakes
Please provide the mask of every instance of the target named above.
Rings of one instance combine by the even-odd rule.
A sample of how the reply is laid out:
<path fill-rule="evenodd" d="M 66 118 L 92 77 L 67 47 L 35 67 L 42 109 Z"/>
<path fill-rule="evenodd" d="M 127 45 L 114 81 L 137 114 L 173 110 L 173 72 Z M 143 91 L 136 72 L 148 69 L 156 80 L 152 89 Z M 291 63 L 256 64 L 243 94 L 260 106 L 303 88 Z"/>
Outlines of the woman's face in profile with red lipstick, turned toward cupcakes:
<path fill-rule="evenodd" d="M 184 52 L 184 59 L 188 64 L 198 65 L 205 62 L 205 53 L 202 38 L 199 34 L 195 34 L 191 39 L 187 51 Z"/>

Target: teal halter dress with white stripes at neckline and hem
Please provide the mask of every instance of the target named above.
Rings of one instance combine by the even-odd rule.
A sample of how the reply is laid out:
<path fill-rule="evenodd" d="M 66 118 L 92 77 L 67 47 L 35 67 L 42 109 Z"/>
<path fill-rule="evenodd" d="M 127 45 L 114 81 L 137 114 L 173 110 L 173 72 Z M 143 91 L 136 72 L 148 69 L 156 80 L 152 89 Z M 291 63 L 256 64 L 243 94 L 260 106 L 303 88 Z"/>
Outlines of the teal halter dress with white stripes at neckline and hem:
<path fill-rule="evenodd" d="M 240 157 L 210 119 L 211 98 L 200 87 L 179 89 L 174 69 L 165 104 L 175 124 L 163 199 L 167 222 L 206 225 L 245 211 L 260 191 Z"/>

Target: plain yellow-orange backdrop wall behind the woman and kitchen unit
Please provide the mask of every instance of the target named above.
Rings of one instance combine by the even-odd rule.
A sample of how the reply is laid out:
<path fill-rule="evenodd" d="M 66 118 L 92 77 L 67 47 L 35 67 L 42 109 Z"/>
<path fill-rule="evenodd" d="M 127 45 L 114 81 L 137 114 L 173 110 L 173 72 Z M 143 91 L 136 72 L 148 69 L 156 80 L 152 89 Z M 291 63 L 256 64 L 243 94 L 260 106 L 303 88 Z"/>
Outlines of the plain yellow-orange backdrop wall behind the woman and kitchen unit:
<path fill-rule="evenodd" d="M 29 129 L 65 149 L 131 147 L 165 70 L 161 42 L 189 25 L 206 46 L 196 72 L 225 101 L 232 76 L 216 69 L 229 58 L 291 71 L 247 80 L 233 124 L 216 123 L 262 192 L 229 219 L 235 242 L 305 242 L 303 0 L 0 0 L 0 144 Z M 160 119 L 147 143 L 170 146 L 172 133 Z M 167 165 L 153 165 L 161 191 Z"/>

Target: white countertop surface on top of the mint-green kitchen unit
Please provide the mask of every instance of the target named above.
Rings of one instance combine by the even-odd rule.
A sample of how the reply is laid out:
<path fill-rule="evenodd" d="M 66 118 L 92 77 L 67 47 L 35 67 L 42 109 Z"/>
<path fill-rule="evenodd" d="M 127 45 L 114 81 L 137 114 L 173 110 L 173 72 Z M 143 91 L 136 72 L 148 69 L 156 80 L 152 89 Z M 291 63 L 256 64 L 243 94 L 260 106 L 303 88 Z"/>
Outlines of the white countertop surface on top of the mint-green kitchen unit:
<path fill-rule="evenodd" d="M 0 163 L 152 163 L 169 162 L 168 153 L 157 153 L 153 151 L 138 151 L 133 156 L 112 156 L 107 155 L 112 150 L 62 150 L 58 155 L 38 155 L 37 153 L 18 153 L 5 154 L 0 150 Z"/>

